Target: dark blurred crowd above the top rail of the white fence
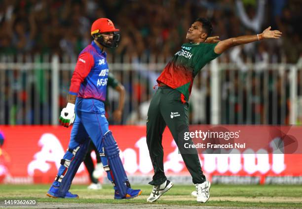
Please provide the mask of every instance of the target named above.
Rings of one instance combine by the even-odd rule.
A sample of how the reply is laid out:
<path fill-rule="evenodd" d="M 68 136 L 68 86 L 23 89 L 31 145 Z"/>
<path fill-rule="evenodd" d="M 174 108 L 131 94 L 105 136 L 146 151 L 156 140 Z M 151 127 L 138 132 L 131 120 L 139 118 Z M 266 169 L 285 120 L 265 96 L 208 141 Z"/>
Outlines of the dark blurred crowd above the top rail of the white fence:
<path fill-rule="evenodd" d="M 0 53 L 57 53 L 76 56 L 90 43 L 91 23 L 113 20 L 122 41 L 113 52 L 129 57 L 171 56 L 185 42 L 197 17 L 211 20 L 220 39 L 255 34 L 268 26 L 281 30 L 279 42 L 244 49 L 256 55 L 302 52 L 301 0 L 0 0 Z M 271 56 L 273 58 L 273 56 Z"/>

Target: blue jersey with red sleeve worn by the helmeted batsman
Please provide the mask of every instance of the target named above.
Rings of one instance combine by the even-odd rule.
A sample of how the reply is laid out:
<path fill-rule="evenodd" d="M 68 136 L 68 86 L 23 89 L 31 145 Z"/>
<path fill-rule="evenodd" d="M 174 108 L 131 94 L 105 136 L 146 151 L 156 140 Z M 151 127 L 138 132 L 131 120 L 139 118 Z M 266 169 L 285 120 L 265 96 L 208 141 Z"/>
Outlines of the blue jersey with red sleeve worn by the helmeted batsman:
<path fill-rule="evenodd" d="M 82 98 L 106 100 L 108 63 L 106 52 L 91 42 L 78 56 L 69 93 Z"/>

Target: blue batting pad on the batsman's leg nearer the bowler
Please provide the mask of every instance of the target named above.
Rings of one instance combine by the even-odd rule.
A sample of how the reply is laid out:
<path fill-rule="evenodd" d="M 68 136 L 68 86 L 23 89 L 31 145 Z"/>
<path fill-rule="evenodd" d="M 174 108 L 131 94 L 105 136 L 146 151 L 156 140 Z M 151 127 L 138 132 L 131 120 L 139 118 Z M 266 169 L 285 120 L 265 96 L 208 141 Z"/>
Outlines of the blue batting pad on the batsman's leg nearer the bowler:
<path fill-rule="evenodd" d="M 121 196 L 126 196 L 127 188 L 130 187 L 130 183 L 124 170 L 123 164 L 119 158 L 119 149 L 111 131 L 105 133 L 105 135 L 103 136 L 103 143 L 105 156 L 107 157 L 109 169 L 112 174 L 116 189 L 119 191 L 119 194 Z"/>

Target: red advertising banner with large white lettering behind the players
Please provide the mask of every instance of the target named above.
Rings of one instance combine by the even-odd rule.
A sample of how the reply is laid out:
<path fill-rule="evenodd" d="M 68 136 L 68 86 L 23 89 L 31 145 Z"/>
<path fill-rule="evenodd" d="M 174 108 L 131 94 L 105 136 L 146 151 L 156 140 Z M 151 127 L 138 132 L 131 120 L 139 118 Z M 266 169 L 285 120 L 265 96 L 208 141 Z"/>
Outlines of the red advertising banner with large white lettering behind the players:
<path fill-rule="evenodd" d="M 121 150 L 120 157 L 128 176 L 149 176 L 151 179 L 153 169 L 146 144 L 146 127 L 110 126 L 110 130 Z M 0 183 L 51 183 L 68 147 L 70 132 L 71 128 L 62 126 L 0 126 L 0 136 L 4 138 L 0 147 Z M 293 132 L 302 136 L 300 129 Z M 189 176 L 168 129 L 162 144 L 166 174 Z M 204 174 L 212 180 L 217 177 L 257 177 L 259 183 L 273 183 L 276 181 L 272 178 L 302 176 L 302 154 L 272 154 L 266 149 L 249 149 L 248 153 L 239 150 L 237 154 L 200 153 L 199 157 Z M 74 183 L 89 183 L 83 164 Z"/>

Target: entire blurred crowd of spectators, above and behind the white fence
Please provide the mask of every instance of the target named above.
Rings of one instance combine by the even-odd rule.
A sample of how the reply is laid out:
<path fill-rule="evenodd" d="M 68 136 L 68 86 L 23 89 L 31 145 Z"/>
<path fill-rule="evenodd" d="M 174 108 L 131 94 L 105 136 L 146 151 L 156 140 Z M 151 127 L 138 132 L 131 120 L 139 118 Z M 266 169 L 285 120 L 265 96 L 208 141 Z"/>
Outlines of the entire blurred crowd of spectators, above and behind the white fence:
<path fill-rule="evenodd" d="M 208 18 L 213 24 L 213 35 L 219 35 L 221 40 L 244 34 L 261 33 L 271 26 L 272 30 L 283 32 L 281 39 L 238 46 L 219 57 L 220 62 L 234 63 L 240 70 L 233 76 L 229 69 L 224 72 L 225 80 L 221 84 L 220 98 L 224 102 L 224 106 L 221 107 L 222 122 L 273 123 L 272 112 L 265 113 L 269 115 L 268 120 L 262 119 L 265 115 L 264 101 L 269 100 L 266 103 L 266 109 L 272 110 L 275 100 L 271 98 L 276 98 L 276 108 L 283 109 L 285 116 L 283 118 L 278 116 L 275 121 L 288 123 L 289 105 L 286 102 L 289 94 L 282 93 L 283 87 L 288 89 L 288 84 L 286 84 L 288 80 L 280 86 L 280 82 L 284 79 L 282 75 L 270 79 L 271 88 L 265 97 L 260 94 L 256 95 L 254 90 L 247 90 L 243 86 L 246 80 L 239 77 L 248 73 L 248 63 L 255 63 L 256 74 L 250 79 L 252 88 L 256 89 L 258 83 L 264 81 L 263 70 L 267 69 L 268 63 L 300 63 L 299 66 L 302 66 L 301 0 L 0 0 L 0 5 L 0 57 L 1 55 L 34 57 L 38 54 L 40 61 L 43 61 L 42 58 L 45 55 L 51 57 L 57 54 L 62 61 L 64 61 L 63 58 L 68 57 L 69 62 L 75 63 L 79 52 L 92 40 L 90 36 L 92 22 L 100 17 L 110 18 L 121 32 L 119 46 L 107 51 L 109 61 L 134 64 L 167 62 L 179 50 L 181 44 L 186 42 L 187 30 L 197 17 Z M 47 88 L 51 89 L 50 72 L 45 74 L 43 70 L 34 70 L 35 75 L 32 76 L 30 87 L 28 87 L 28 81 L 22 81 L 23 84 L 19 84 L 19 88 L 14 84 L 14 79 L 16 83 L 18 79 L 27 80 L 25 72 L 16 71 L 12 74 L 14 79 L 10 80 L 12 83 L 5 85 L 4 91 L 12 91 L 11 95 L 14 95 L 14 99 L 12 101 L 5 94 L 5 110 L 1 109 L 0 112 L 16 115 L 18 108 L 12 103 L 18 103 L 18 97 L 23 98 L 19 106 L 25 108 L 29 93 L 24 90 L 29 89 L 32 95 L 38 96 L 31 96 L 31 104 L 27 105 L 30 110 L 23 111 L 24 114 L 29 115 L 26 116 L 29 118 L 27 123 L 50 123 L 50 117 L 45 118 L 45 116 L 51 114 L 52 99 L 51 94 L 44 91 Z M 145 124 L 149 101 L 154 91 L 152 86 L 160 73 L 158 70 L 146 73 L 147 71 L 138 65 L 136 69 L 130 69 L 127 73 L 122 72 L 121 69 L 115 73 L 127 91 L 126 111 L 122 121 L 124 124 Z M 6 78 L 10 78 L 10 73 L 5 71 L 5 82 L 9 82 Z M 70 73 L 62 72 L 60 75 L 60 108 L 62 108 L 66 103 Z M 126 81 L 125 77 L 127 77 Z M 302 76 L 299 74 L 299 77 Z M 191 123 L 210 123 L 209 78 L 210 73 L 205 69 L 201 76 L 195 79 L 190 99 Z M 298 83 L 300 81 L 302 79 Z M 240 83 L 243 92 L 241 97 L 238 91 Z M 302 85 L 300 86 L 298 93 L 302 95 Z M 276 95 L 272 92 L 276 92 Z M 118 96 L 110 91 L 109 98 L 114 109 Z M 38 105 L 34 105 L 37 100 L 39 100 Z M 283 101 L 284 107 L 279 100 Z M 251 101 L 253 103 L 251 107 L 260 115 L 260 119 L 253 118 L 247 121 L 247 116 L 240 116 L 241 119 L 232 116 L 233 113 L 242 113 L 245 103 Z M 37 106 L 40 110 L 36 110 Z M 11 110 L 12 107 L 15 108 L 14 111 Z M 34 118 L 37 119 L 35 115 L 39 112 L 38 115 L 42 118 L 38 117 L 40 122 L 37 122 Z M 257 115 L 254 112 L 253 117 Z M 19 122 L 17 120 L 10 122 L 11 118 L 14 117 L 6 114 L 4 123 L 25 123 L 22 116 L 20 118 L 23 120 Z"/>

